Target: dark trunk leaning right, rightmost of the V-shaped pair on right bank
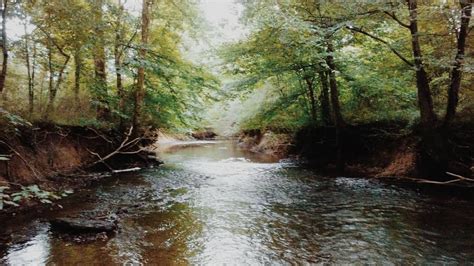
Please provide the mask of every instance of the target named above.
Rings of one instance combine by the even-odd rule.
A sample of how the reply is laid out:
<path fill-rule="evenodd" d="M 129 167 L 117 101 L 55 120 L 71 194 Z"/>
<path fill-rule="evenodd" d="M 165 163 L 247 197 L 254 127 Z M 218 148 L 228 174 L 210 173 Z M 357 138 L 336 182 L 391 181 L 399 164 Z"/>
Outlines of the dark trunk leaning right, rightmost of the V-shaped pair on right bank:
<path fill-rule="evenodd" d="M 471 0 L 460 0 L 462 8 L 461 28 L 457 38 L 457 52 L 454 60 L 453 69 L 451 71 L 451 83 L 448 90 L 448 106 L 446 109 L 446 116 L 444 123 L 447 126 L 454 119 L 456 115 L 456 108 L 459 101 L 459 88 L 461 87 L 462 79 L 462 64 L 464 60 L 464 51 L 466 48 L 466 39 L 469 34 L 469 20 L 471 19 L 472 4 Z"/>

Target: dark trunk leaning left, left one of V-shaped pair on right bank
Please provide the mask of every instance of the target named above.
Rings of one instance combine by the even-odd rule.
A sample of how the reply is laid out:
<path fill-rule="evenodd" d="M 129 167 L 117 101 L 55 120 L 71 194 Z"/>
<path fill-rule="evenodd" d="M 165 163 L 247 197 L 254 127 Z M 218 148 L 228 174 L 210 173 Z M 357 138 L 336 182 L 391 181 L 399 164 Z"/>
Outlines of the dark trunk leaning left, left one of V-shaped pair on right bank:
<path fill-rule="evenodd" d="M 421 52 L 420 40 L 418 38 L 418 13 L 417 0 L 408 0 L 410 11 L 410 33 L 413 57 L 416 71 L 416 87 L 418 90 L 418 104 L 420 107 L 420 120 L 425 129 L 435 127 L 436 114 L 433 110 L 433 99 L 431 97 L 430 82 L 428 74 L 423 65 L 423 54 Z"/>

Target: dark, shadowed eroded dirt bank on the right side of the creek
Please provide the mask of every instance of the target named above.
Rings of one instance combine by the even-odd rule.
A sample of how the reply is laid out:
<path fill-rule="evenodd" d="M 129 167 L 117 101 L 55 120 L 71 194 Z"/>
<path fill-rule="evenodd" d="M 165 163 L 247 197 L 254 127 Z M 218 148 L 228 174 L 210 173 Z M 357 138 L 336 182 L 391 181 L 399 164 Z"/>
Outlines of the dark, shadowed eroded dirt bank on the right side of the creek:
<path fill-rule="evenodd" d="M 343 135 L 344 174 L 370 177 L 413 177 L 450 180 L 450 172 L 472 176 L 474 126 L 458 124 L 444 132 L 449 148 L 443 162 L 428 162 L 419 129 L 404 123 L 348 126 Z M 240 146 L 281 157 L 297 156 L 321 171 L 335 172 L 336 139 L 333 127 L 305 128 L 296 134 L 251 130 L 239 136 Z"/>

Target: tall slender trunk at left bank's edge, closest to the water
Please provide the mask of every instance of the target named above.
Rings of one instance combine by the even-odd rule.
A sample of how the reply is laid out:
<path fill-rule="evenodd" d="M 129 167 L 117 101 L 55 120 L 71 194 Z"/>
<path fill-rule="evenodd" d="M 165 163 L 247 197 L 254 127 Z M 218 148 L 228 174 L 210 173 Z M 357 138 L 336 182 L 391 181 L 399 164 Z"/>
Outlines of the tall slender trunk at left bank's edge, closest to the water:
<path fill-rule="evenodd" d="M 147 53 L 148 45 L 148 27 L 150 24 L 150 7 L 151 0 L 143 0 L 142 7 L 142 43 L 139 51 L 139 57 L 141 60 L 145 60 Z M 135 90 L 135 110 L 133 112 L 133 126 L 135 132 L 140 132 L 140 122 L 142 119 L 142 105 L 145 98 L 145 68 L 143 66 L 143 61 L 138 67 L 138 76 L 137 76 L 137 87 Z"/>

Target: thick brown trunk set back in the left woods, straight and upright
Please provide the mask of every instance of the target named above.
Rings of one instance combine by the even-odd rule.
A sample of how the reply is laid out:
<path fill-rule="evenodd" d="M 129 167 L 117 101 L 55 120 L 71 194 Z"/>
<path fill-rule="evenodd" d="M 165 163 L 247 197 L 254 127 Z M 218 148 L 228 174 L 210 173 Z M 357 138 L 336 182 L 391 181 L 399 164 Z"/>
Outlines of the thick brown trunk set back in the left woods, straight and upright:
<path fill-rule="evenodd" d="M 97 107 L 97 119 L 109 119 L 109 106 L 107 101 L 107 72 L 103 29 L 103 0 L 93 1 L 95 8 L 95 42 L 94 42 L 94 74 L 96 83 L 96 95 L 99 105 Z"/>

